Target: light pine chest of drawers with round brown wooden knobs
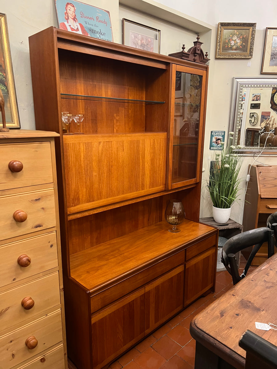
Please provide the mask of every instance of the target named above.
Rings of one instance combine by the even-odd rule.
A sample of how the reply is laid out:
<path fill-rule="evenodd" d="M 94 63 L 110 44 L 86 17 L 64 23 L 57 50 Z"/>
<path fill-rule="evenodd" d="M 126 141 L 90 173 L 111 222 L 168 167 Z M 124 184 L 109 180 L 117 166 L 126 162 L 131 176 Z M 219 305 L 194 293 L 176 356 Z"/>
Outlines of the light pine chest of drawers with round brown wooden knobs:
<path fill-rule="evenodd" d="M 0 368 L 67 368 L 55 132 L 0 133 Z"/>

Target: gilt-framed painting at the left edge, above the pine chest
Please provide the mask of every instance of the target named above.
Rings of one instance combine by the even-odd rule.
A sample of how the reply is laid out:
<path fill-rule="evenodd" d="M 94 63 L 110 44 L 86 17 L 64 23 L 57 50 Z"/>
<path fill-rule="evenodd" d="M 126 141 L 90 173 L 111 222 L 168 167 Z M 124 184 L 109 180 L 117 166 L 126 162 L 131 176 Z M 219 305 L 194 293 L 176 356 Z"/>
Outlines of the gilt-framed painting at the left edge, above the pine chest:
<path fill-rule="evenodd" d="M 0 89 L 5 101 L 7 128 L 20 128 L 6 14 L 0 13 Z M 0 126 L 2 117 L 0 114 Z"/>

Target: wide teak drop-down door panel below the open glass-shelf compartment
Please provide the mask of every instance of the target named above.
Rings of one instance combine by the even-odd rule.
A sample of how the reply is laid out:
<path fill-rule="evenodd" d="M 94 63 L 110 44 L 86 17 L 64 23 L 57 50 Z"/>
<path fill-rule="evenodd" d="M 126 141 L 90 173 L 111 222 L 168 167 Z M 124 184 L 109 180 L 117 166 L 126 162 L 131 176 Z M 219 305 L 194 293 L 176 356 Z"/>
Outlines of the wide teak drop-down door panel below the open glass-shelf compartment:
<path fill-rule="evenodd" d="M 68 214 L 165 190 L 166 149 L 166 132 L 64 135 Z"/>

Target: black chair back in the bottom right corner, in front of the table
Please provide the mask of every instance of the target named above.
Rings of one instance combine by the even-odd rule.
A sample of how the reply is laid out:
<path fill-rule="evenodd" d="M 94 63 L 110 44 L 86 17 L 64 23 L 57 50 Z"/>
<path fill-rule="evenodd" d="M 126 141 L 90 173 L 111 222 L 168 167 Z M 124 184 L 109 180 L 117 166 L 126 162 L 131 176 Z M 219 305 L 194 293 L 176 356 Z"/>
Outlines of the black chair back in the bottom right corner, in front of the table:
<path fill-rule="evenodd" d="M 257 334 L 247 330 L 239 340 L 246 351 L 244 369 L 276 369 L 277 347 Z"/>

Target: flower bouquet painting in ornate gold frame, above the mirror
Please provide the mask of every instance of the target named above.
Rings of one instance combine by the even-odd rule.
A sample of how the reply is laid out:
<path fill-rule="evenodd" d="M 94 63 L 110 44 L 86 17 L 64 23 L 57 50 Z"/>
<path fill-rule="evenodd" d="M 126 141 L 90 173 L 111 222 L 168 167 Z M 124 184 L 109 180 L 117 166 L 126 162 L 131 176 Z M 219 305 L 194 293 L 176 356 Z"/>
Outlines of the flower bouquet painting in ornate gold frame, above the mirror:
<path fill-rule="evenodd" d="M 216 58 L 253 56 L 256 23 L 218 23 Z"/>

